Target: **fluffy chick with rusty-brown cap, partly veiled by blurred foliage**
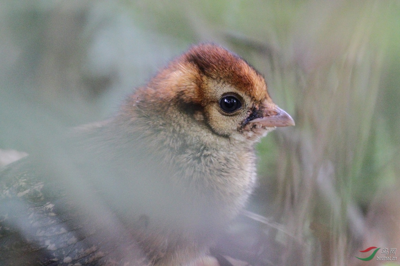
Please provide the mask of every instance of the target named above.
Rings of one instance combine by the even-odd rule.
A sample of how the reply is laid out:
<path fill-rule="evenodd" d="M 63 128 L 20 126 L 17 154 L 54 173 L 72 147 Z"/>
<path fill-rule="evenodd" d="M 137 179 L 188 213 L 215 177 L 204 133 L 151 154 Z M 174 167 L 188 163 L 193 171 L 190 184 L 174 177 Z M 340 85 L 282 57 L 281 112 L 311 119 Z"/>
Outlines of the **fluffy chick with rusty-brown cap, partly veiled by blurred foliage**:
<path fill-rule="evenodd" d="M 68 241 L 52 249 L 51 243 L 61 241 L 55 234 L 49 240 L 34 232 L 29 241 L 18 241 L 28 243 L 30 252 L 32 242 L 47 249 L 43 256 L 51 265 L 187 265 L 206 254 L 252 193 L 254 144 L 290 125 L 293 119 L 272 102 L 264 78 L 246 61 L 213 44 L 192 46 L 130 95 L 114 117 L 80 133 L 72 153 L 90 189 L 62 182 L 46 187 L 49 178 L 34 175 L 37 182 L 31 183 L 41 183 L 40 193 L 48 197 L 40 202 L 60 207 L 51 217 L 27 211 L 27 221 L 36 219 L 43 228 L 46 219 L 63 221 L 58 222 L 75 237 L 70 242 L 86 253 L 66 256 L 65 249 L 76 249 Z M 54 191 L 67 191 L 65 199 Z M 32 202 L 31 197 L 22 205 L 31 210 Z M 80 228 L 77 236 L 73 228 Z M 96 256 L 83 261 L 82 254 Z"/>

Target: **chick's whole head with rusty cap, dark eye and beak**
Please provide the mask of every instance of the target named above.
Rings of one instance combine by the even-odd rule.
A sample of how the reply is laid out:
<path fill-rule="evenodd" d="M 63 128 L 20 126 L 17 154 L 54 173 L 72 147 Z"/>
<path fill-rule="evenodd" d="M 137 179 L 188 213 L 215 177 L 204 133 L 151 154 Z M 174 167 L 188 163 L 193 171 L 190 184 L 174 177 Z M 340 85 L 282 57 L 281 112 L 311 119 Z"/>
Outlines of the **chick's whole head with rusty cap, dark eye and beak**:
<path fill-rule="evenodd" d="M 153 90 L 151 88 L 161 88 Z M 219 136 L 258 140 L 294 125 L 268 95 L 264 77 L 245 60 L 214 44 L 192 46 L 150 81 L 147 102 L 180 106 Z M 156 101 L 156 100 L 155 100 Z"/>

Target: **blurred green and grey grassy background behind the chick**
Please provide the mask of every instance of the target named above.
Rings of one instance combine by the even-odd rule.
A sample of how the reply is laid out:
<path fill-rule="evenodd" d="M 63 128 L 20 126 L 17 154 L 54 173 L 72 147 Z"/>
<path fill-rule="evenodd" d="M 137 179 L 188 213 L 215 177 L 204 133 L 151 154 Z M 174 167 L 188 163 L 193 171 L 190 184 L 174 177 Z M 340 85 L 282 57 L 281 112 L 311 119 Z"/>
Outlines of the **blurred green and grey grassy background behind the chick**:
<path fill-rule="evenodd" d="M 0 148 L 51 153 L 64 126 L 107 117 L 169 59 L 212 41 L 259 69 L 296 121 L 258 145 L 260 184 L 249 207 L 285 226 L 275 238 L 286 243 L 283 264 L 361 265 L 354 254 L 362 247 L 400 248 L 400 234 L 390 237 L 398 224 L 382 224 L 400 220 L 398 209 L 384 212 L 400 197 L 386 193 L 400 187 L 399 1 L 0 7 Z M 295 249 L 306 250 L 296 263 Z"/>

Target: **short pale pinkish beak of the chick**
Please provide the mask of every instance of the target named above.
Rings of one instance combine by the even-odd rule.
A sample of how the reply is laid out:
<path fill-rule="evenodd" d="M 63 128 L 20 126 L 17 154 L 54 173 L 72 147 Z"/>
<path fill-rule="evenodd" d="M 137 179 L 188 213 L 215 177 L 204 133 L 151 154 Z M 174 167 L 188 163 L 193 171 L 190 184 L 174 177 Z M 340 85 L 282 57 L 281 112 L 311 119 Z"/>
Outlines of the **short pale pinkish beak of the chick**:
<path fill-rule="evenodd" d="M 294 126 L 293 118 L 278 106 L 266 107 L 259 110 L 254 119 L 248 123 L 257 123 L 261 127 L 288 127 Z"/>

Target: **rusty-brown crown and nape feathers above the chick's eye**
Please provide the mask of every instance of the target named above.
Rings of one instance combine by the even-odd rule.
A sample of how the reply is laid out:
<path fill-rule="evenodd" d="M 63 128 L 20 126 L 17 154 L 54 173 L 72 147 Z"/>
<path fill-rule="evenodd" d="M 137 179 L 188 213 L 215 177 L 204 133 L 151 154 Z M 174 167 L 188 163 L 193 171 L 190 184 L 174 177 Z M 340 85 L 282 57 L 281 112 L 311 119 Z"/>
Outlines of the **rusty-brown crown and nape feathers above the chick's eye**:
<path fill-rule="evenodd" d="M 264 77 L 238 55 L 214 44 L 192 46 L 162 69 L 150 81 L 147 89 L 168 85 L 168 89 L 154 93 L 170 101 L 182 93 L 182 100 L 200 103 L 204 93 L 201 87 L 202 76 L 232 85 L 255 101 L 270 100 Z"/>

